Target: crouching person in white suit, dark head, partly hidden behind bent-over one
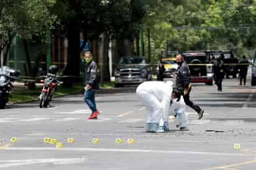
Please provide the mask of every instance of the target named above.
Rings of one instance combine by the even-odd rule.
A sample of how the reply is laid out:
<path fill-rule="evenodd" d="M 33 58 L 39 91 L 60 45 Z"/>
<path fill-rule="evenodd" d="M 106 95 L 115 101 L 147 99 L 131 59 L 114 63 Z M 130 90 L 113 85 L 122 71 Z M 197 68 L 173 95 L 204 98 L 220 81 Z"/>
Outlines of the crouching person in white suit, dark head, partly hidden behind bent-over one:
<path fill-rule="evenodd" d="M 177 128 L 180 128 L 181 131 L 186 131 L 188 129 L 188 115 L 185 113 L 186 104 L 184 102 L 183 96 L 181 96 L 180 92 L 177 89 L 173 89 L 170 114 L 175 115 L 176 119 L 178 119 Z"/>

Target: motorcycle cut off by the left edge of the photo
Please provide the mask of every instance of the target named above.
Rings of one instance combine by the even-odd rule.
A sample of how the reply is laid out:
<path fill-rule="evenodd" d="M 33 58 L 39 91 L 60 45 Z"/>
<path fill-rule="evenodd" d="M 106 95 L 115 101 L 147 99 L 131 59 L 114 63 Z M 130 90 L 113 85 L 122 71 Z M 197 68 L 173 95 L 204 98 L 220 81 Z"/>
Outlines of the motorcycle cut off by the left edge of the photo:
<path fill-rule="evenodd" d="M 0 109 L 4 109 L 12 92 L 12 83 L 20 78 L 20 71 L 7 66 L 0 68 Z"/>

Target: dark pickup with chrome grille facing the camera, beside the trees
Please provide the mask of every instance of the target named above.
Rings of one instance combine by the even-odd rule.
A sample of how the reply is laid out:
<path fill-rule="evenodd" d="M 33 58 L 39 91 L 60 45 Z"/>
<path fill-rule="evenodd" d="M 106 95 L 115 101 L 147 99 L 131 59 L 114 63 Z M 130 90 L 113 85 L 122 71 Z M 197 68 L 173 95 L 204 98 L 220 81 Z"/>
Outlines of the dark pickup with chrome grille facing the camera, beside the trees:
<path fill-rule="evenodd" d="M 114 77 L 116 87 L 124 84 L 140 84 L 152 79 L 152 65 L 144 56 L 125 56 L 120 58 Z"/>

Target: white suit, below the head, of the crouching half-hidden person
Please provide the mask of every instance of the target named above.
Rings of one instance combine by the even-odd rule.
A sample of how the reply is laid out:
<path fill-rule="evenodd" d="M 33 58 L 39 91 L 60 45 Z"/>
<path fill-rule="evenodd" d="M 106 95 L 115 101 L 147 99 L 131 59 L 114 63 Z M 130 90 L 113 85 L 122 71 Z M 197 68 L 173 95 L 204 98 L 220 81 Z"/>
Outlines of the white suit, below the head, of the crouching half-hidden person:
<path fill-rule="evenodd" d="M 171 114 L 176 115 L 176 119 L 178 119 L 177 127 L 180 130 L 188 130 L 189 122 L 188 122 L 188 115 L 185 113 L 186 104 L 184 102 L 183 96 L 180 97 L 180 101 L 177 102 L 178 99 L 173 99 L 171 104 Z"/>

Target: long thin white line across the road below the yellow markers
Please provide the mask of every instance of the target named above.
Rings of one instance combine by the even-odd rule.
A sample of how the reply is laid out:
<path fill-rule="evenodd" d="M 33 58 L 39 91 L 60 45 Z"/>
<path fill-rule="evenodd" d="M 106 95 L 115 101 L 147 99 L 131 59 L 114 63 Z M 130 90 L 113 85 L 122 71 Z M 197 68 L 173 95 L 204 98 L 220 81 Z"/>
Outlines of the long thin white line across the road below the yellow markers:
<path fill-rule="evenodd" d="M 162 153 L 162 154 L 203 154 L 215 156 L 254 156 L 254 154 L 244 153 L 217 153 L 206 151 L 171 151 L 171 150 L 128 150 L 128 149 L 107 149 L 107 148 L 39 148 L 39 147 L 17 147 L 17 148 L 4 148 L 1 151 L 91 151 L 91 152 L 122 152 L 122 153 Z"/>

